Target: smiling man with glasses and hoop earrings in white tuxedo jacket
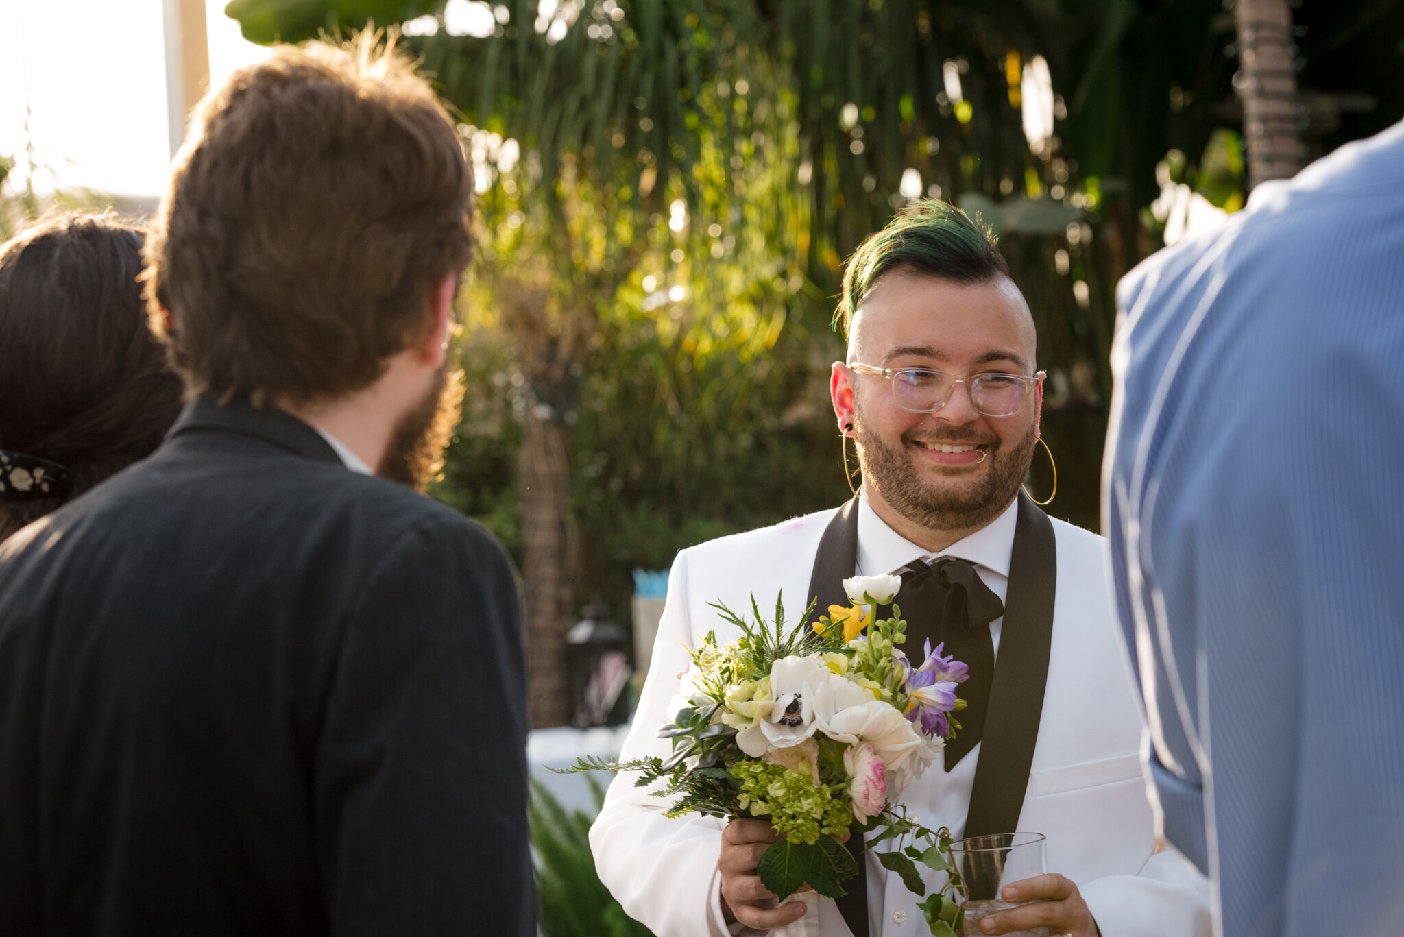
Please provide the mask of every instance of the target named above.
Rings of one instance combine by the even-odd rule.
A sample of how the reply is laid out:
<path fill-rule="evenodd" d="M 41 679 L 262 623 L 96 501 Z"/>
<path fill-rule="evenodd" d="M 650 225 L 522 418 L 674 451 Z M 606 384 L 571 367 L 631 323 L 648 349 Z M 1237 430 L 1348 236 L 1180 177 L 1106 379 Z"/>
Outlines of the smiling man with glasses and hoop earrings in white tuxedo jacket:
<path fill-rule="evenodd" d="M 1207 934 L 1206 881 L 1177 851 L 1157 851 L 1104 542 L 1019 490 L 1039 443 L 1043 372 L 994 239 L 952 205 L 914 202 L 848 261 L 837 319 L 848 358 L 834 362 L 830 391 L 862 487 L 837 510 L 678 555 L 621 757 L 670 754 L 654 730 L 687 695 L 688 649 L 701 634 L 723 645 L 737 634 L 712 603 L 750 608 L 779 591 L 790 610 L 814 601 L 817 617 L 849 604 L 845 577 L 894 575 L 906 653 L 943 645 L 970 674 L 943 766 L 900 802 L 955 837 L 1046 836 L 1049 874 L 1005 882 L 1002 898 L 1021 906 L 965 933 Z M 668 806 L 616 778 L 590 833 L 601 881 L 654 933 L 755 934 L 802 919 L 817 931 L 800 933 L 927 933 L 917 896 L 882 863 L 899 840 L 863 851 L 852 829 L 861 877 L 848 893 L 775 907 L 755 871 L 776 840 L 769 823 L 670 819 Z M 928 892 L 945 885 L 945 874 L 924 877 Z"/>

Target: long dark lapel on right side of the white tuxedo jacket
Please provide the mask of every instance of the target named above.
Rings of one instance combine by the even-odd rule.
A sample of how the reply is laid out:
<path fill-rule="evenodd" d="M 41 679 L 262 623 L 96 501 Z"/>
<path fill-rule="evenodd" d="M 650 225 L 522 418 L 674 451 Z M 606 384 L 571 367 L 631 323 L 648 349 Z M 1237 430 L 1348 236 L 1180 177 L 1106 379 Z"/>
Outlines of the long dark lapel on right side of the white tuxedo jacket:
<path fill-rule="evenodd" d="M 1018 827 L 1047 686 L 1056 586 L 1053 523 L 1028 496 L 1019 494 L 1004 625 L 966 813 L 966 836 L 1012 833 Z"/>

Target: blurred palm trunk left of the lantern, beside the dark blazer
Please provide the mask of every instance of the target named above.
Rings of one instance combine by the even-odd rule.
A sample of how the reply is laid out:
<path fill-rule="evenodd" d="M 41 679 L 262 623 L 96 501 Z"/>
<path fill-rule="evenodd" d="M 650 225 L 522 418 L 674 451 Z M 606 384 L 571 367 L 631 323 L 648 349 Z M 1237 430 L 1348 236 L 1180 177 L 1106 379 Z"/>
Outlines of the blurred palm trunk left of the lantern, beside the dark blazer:
<path fill-rule="evenodd" d="M 570 723 L 570 427 L 532 400 L 521 448 L 526 679 L 534 729 Z"/>

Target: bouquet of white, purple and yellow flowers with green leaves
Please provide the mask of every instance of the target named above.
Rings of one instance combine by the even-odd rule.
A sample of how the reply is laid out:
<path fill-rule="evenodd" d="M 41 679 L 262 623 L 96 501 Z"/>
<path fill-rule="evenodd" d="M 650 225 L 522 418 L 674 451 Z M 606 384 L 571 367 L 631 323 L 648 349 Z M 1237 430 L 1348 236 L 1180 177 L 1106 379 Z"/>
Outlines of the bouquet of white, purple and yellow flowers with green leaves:
<path fill-rule="evenodd" d="M 639 771 L 639 787 L 663 781 L 654 797 L 677 798 L 667 816 L 769 820 L 782 837 L 757 874 L 781 900 L 806 882 L 828 898 L 845 893 L 858 864 L 844 833 L 876 833 L 869 846 L 897 839 L 879 860 L 917 895 L 925 895 L 917 863 L 949 872 L 945 893 L 921 907 L 932 934 L 953 937 L 960 879 L 949 833 L 920 826 L 894 804 L 960 728 L 956 687 L 967 673 L 929 642 L 913 666 L 899 648 L 907 622 L 896 605 L 875 621 L 900 584 L 899 576 L 845 579 L 852 607 L 830 605 L 806 625 L 812 605 L 788 631 L 779 597 L 772 622 L 754 598 L 754 622 L 713 605 L 740 635 L 719 645 L 708 634 L 691 652 L 677 716 L 658 730 L 673 740 L 671 756 L 581 759 L 566 771 Z"/>

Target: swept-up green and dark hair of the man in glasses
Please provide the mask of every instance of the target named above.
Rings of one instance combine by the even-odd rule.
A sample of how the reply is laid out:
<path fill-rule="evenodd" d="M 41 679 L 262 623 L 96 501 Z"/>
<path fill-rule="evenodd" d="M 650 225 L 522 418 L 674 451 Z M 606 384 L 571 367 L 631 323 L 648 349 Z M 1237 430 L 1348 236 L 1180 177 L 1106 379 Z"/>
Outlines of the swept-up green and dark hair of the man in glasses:
<path fill-rule="evenodd" d="M 990 229 L 949 202 L 913 199 L 886 228 L 858 246 L 844 271 L 844 296 L 834 312 L 840 336 L 878 281 L 894 270 L 963 285 L 1009 275 L 1009 264 Z"/>

